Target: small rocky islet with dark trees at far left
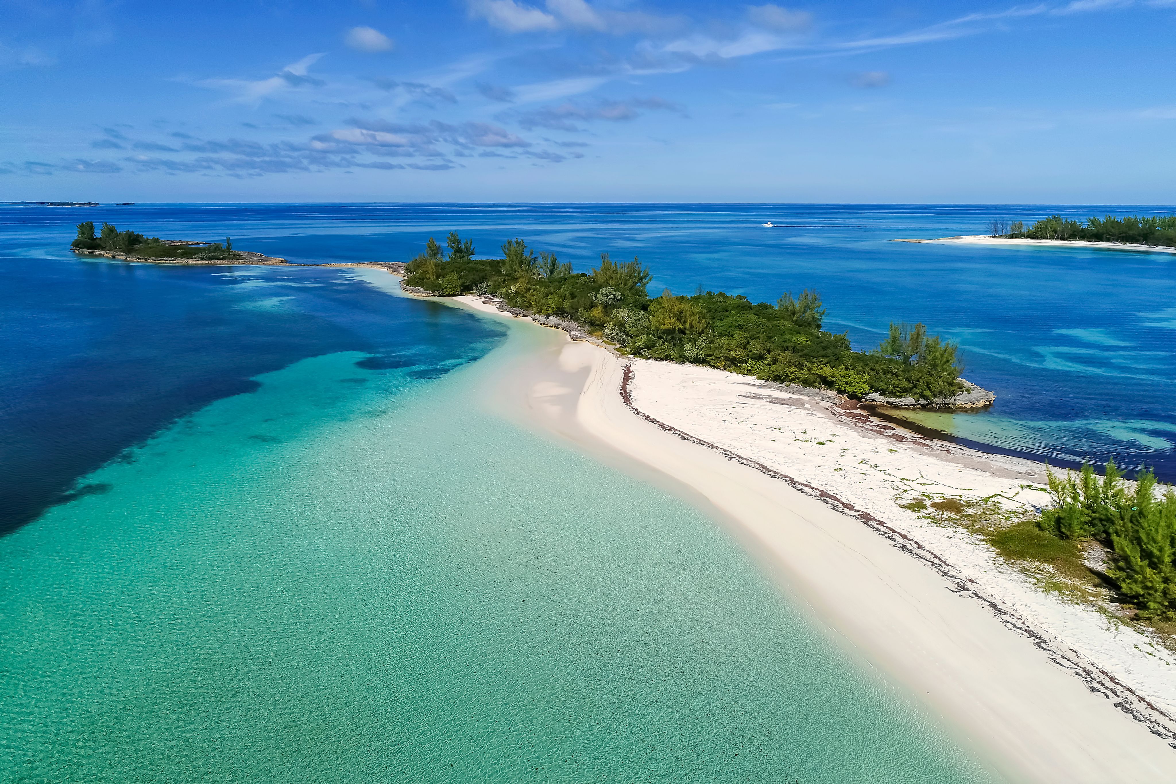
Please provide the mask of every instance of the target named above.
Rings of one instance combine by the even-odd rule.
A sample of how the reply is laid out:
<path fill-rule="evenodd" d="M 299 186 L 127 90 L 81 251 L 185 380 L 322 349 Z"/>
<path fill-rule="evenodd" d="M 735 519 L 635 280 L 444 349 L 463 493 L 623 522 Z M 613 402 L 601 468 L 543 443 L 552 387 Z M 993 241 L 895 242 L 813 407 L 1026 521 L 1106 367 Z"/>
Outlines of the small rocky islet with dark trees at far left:
<path fill-rule="evenodd" d="M 249 250 L 234 250 L 232 237 L 225 242 L 201 242 L 195 240 L 160 240 L 138 232 L 120 232 L 113 223 L 102 223 L 94 234 L 94 222 L 78 225 L 78 237 L 69 244 L 74 253 L 85 253 L 122 261 L 146 261 L 172 264 L 212 264 L 233 262 L 239 264 L 285 264 L 285 259 L 266 256 Z"/>

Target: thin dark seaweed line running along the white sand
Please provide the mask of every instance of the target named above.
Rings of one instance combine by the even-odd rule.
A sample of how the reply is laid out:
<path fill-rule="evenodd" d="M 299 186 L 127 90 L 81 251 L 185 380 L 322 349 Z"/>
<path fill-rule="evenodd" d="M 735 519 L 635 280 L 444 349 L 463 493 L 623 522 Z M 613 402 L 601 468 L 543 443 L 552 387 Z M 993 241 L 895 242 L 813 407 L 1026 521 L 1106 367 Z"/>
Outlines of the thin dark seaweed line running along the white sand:
<path fill-rule="evenodd" d="M 1150 699 L 1131 689 L 1131 686 L 1127 685 L 1103 668 L 1089 662 L 1087 657 L 1082 656 L 1077 651 L 1073 649 L 1067 651 L 1063 645 L 1053 641 L 1048 632 L 1035 629 L 1034 625 L 1024 617 L 1002 605 L 995 598 L 981 592 L 976 587 L 975 581 L 963 576 L 956 567 L 929 550 L 921 542 L 895 528 L 891 528 L 884 521 L 878 520 L 870 512 L 857 509 L 854 504 L 847 501 L 842 501 L 831 492 L 808 484 L 807 482 L 801 482 L 800 480 L 769 468 L 759 461 L 751 460 L 750 457 L 744 457 L 743 455 L 734 453 L 729 449 L 724 449 L 708 441 L 703 441 L 702 438 L 691 436 L 674 425 L 655 420 L 633 403 L 633 395 L 629 389 L 633 377 L 633 363 L 628 362 L 626 363 L 621 376 L 620 394 L 626 407 L 635 415 L 655 427 L 682 438 L 683 441 L 714 450 L 727 460 L 753 468 L 773 478 L 787 482 L 789 485 L 804 495 L 817 498 L 836 511 L 849 515 L 850 517 L 866 523 L 874 529 L 874 531 L 882 535 L 891 544 L 897 547 L 898 550 L 911 557 L 918 558 L 938 572 L 940 576 L 948 581 L 949 590 L 962 596 L 970 596 L 988 607 L 997 621 L 1004 624 L 1008 629 L 1028 637 L 1035 646 L 1045 652 L 1051 662 L 1065 670 L 1069 670 L 1076 677 L 1081 678 L 1090 691 L 1110 699 L 1116 708 L 1147 726 L 1152 735 L 1168 741 L 1168 745 L 1176 749 L 1176 717 L 1170 716 L 1163 709 L 1155 705 Z"/>

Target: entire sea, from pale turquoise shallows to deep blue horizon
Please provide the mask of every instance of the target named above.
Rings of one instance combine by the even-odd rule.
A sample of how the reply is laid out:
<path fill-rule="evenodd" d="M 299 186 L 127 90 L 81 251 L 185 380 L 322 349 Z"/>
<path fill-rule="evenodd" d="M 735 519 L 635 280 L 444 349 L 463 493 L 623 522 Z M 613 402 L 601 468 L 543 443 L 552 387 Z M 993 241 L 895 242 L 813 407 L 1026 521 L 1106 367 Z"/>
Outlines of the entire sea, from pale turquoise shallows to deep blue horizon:
<path fill-rule="evenodd" d="M 889 241 L 994 209 L 0 208 L 4 778 L 995 780 L 714 521 L 477 404 L 534 329 L 379 270 L 66 250 L 80 220 L 307 262 L 457 229 L 817 288 L 857 346 L 961 340 L 998 402 L 934 427 L 1169 464 L 1170 261 Z"/>

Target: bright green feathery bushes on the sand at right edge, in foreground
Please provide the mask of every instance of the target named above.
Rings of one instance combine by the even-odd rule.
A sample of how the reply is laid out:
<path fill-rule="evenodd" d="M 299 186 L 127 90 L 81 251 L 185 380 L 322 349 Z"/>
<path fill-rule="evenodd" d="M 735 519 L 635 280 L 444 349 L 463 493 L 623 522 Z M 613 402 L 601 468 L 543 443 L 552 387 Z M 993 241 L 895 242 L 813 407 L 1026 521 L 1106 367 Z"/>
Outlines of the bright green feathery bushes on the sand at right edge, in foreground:
<path fill-rule="evenodd" d="M 1063 541 L 1094 538 L 1111 551 L 1108 576 L 1141 618 L 1176 621 L 1176 491 L 1163 496 L 1151 471 L 1131 488 L 1114 462 L 1098 477 L 1090 465 L 1065 478 L 1049 474 L 1054 507 L 1038 528 Z"/>

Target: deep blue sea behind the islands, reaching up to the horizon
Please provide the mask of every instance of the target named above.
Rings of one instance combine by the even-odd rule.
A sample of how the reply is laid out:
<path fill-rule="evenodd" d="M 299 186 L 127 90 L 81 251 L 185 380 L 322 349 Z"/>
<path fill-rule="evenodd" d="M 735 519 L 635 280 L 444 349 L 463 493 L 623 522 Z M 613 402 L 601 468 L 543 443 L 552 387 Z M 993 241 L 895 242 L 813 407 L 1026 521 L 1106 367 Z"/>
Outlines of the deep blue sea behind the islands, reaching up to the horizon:
<path fill-rule="evenodd" d="M 6 240 L 60 255 L 83 217 L 216 239 L 295 261 L 400 261 L 459 229 L 482 253 L 521 236 L 577 269 L 639 255 L 654 290 L 699 286 L 775 301 L 815 288 L 827 324 L 870 348 L 922 321 L 964 348 L 993 409 L 917 416 L 981 448 L 1055 464 L 1114 457 L 1176 480 L 1176 256 L 1090 248 L 909 244 L 984 232 L 994 216 L 1171 213 L 1140 206 L 294 205 L 0 208 Z M 761 223 L 771 221 L 776 228 Z M 52 241 L 51 237 L 52 236 Z"/>

